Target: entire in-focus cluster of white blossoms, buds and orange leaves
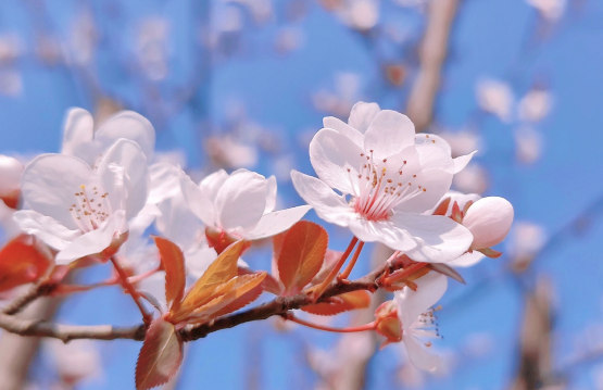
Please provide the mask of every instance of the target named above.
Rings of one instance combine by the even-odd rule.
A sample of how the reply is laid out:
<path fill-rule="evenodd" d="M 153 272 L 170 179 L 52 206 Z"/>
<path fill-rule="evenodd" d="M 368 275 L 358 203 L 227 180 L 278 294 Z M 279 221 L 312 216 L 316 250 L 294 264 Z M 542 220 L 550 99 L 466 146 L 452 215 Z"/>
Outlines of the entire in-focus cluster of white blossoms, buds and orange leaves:
<path fill-rule="evenodd" d="M 323 124 L 310 142 L 316 176 L 291 172 L 307 204 L 275 211 L 274 176 L 218 171 L 196 183 L 154 153 L 154 128 L 141 115 L 124 111 L 96 126 L 87 111 L 68 111 L 61 153 L 38 155 L 25 166 L 0 159 L 0 221 L 14 231 L 0 252 L 8 276 L 0 290 L 33 281 L 81 290 L 64 277 L 111 261 L 115 275 L 108 284 L 124 286 L 147 322 L 136 380 L 138 388 L 151 388 L 181 361 L 183 340 L 167 336 L 242 309 L 263 292 L 305 294 L 312 304 L 301 309 L 314 314 L 367 307 L 366 290 L 322 297 L 348 278 L 365 242 L 379 242 L 393 254 L 382 260 L 388 267 L 376 284 L 393 299 L 373 323 L 347 331 L 377 331 L 384 347 L 402 342 L 417 367 L 436 370 L 441 362 L 428 340 L 439 337 L 435 305 L 449 277 L 462 280 L 454 267 L 501 255 L 492 247 L 507 235 L 513 206 L 503 198 L 451 191 L 475 151 L 453 159 L 443 138 L 415 133 L 401 113 L 359 102 L 347 123 L 325 117 Z M 343 253 L 328 248 L 323 227 L 301 221 L 312 209 L 325 223 L 349 228 Z M 241 255 L 268 238 L 274 269 L 253 271 Z M 35 251 L 26 267 L 7 265 L 15 246 Z M 160 288 L 142 292 L 141 285 L 158 278 Z M 147 312 L 151 305 L 159 317 Z M 321 328 L 292 313 L 275 314 Z M 159 349 L 172 352 L 158 357 Z"/>

